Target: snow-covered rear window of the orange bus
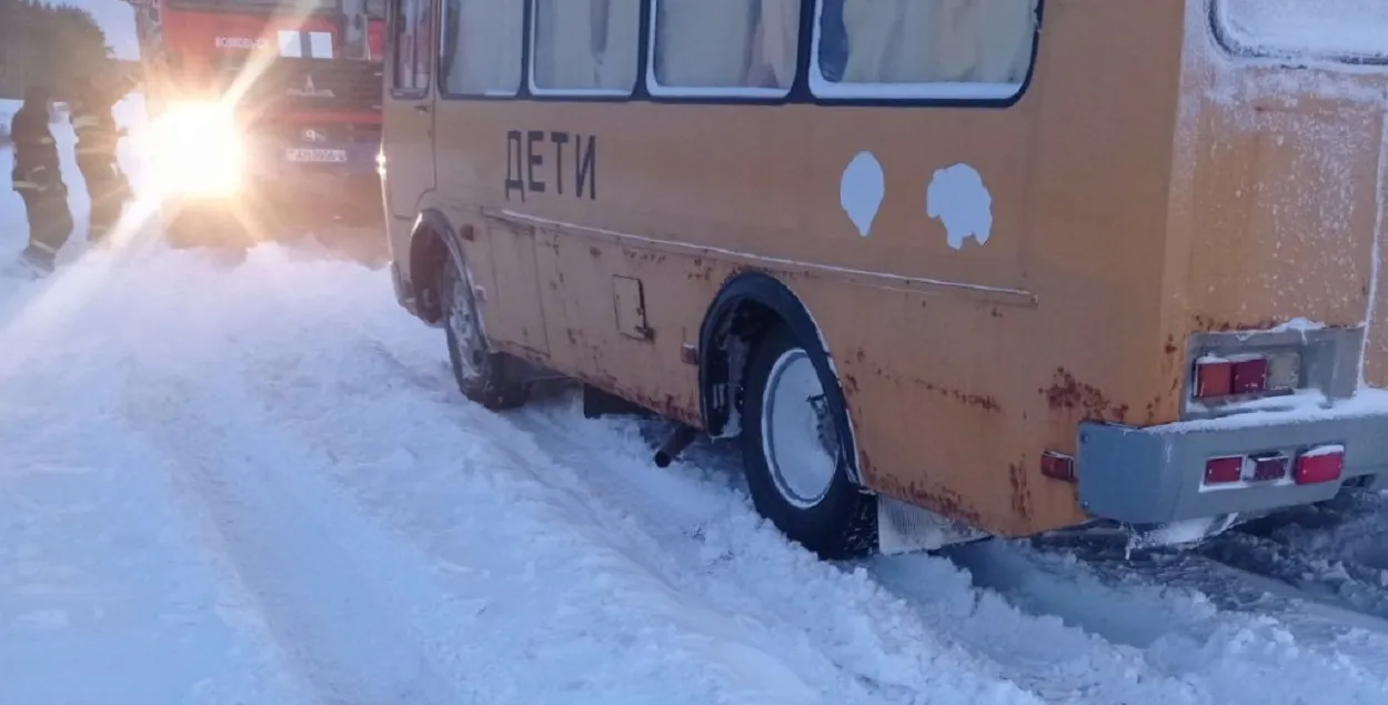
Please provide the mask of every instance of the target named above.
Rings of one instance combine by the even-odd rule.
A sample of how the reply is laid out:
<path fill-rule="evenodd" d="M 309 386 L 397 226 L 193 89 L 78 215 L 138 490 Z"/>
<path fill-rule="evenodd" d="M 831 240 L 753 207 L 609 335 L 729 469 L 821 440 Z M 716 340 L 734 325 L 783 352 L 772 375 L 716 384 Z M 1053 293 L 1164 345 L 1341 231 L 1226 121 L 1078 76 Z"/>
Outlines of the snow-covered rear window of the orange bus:
<path fill-rule="evenodd" d="M 1213 19 L 1237 54 L 1388 64 L 1384 0 L 1214 0 Z"/>

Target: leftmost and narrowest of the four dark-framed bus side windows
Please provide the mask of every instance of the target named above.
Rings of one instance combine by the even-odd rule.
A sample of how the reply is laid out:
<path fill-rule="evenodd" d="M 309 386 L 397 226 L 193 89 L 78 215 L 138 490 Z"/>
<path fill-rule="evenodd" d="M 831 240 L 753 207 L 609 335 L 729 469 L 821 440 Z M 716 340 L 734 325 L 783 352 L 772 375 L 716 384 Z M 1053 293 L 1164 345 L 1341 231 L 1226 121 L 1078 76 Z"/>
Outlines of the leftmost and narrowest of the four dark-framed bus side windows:
<path fill-rule="evenodd" d="M 523 37 L 525 0 L 447 0 L 440 61 L 444 93 L 515 96 Z"/>

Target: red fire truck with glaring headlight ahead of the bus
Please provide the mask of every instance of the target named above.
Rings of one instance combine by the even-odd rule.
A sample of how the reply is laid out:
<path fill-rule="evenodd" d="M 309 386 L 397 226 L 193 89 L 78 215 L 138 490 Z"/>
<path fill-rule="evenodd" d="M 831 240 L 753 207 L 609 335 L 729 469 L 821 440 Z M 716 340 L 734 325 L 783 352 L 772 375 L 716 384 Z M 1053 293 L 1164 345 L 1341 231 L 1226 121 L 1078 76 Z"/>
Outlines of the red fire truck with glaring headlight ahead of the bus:
<path fill-rule="evenodd" d="M 168 239 L 383 221 L 384 0 L 126 0 Z"/>

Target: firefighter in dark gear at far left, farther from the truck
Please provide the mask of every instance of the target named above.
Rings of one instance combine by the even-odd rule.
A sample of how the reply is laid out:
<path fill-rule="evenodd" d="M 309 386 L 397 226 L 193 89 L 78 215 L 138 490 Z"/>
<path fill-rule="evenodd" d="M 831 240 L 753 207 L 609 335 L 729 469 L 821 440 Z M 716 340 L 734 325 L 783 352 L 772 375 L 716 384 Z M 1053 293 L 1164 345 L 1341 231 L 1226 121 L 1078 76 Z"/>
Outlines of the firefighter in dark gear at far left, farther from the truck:
<path fill-rule="evenodd" d="M 24 105 L 10 124 L 14 143 L 14 171 L 10 179 L 24 198 L 29 218 L 29 244 L 19 253 L 21 261 L 43 272 L 51 272 L 58 250 L 72 235 L 72 211 L 68 208 L 68 186 L 58 165 L 57 140 L 49 130 L 53 97 L 43 86 L 29 86 L 24 92 Z"/>

